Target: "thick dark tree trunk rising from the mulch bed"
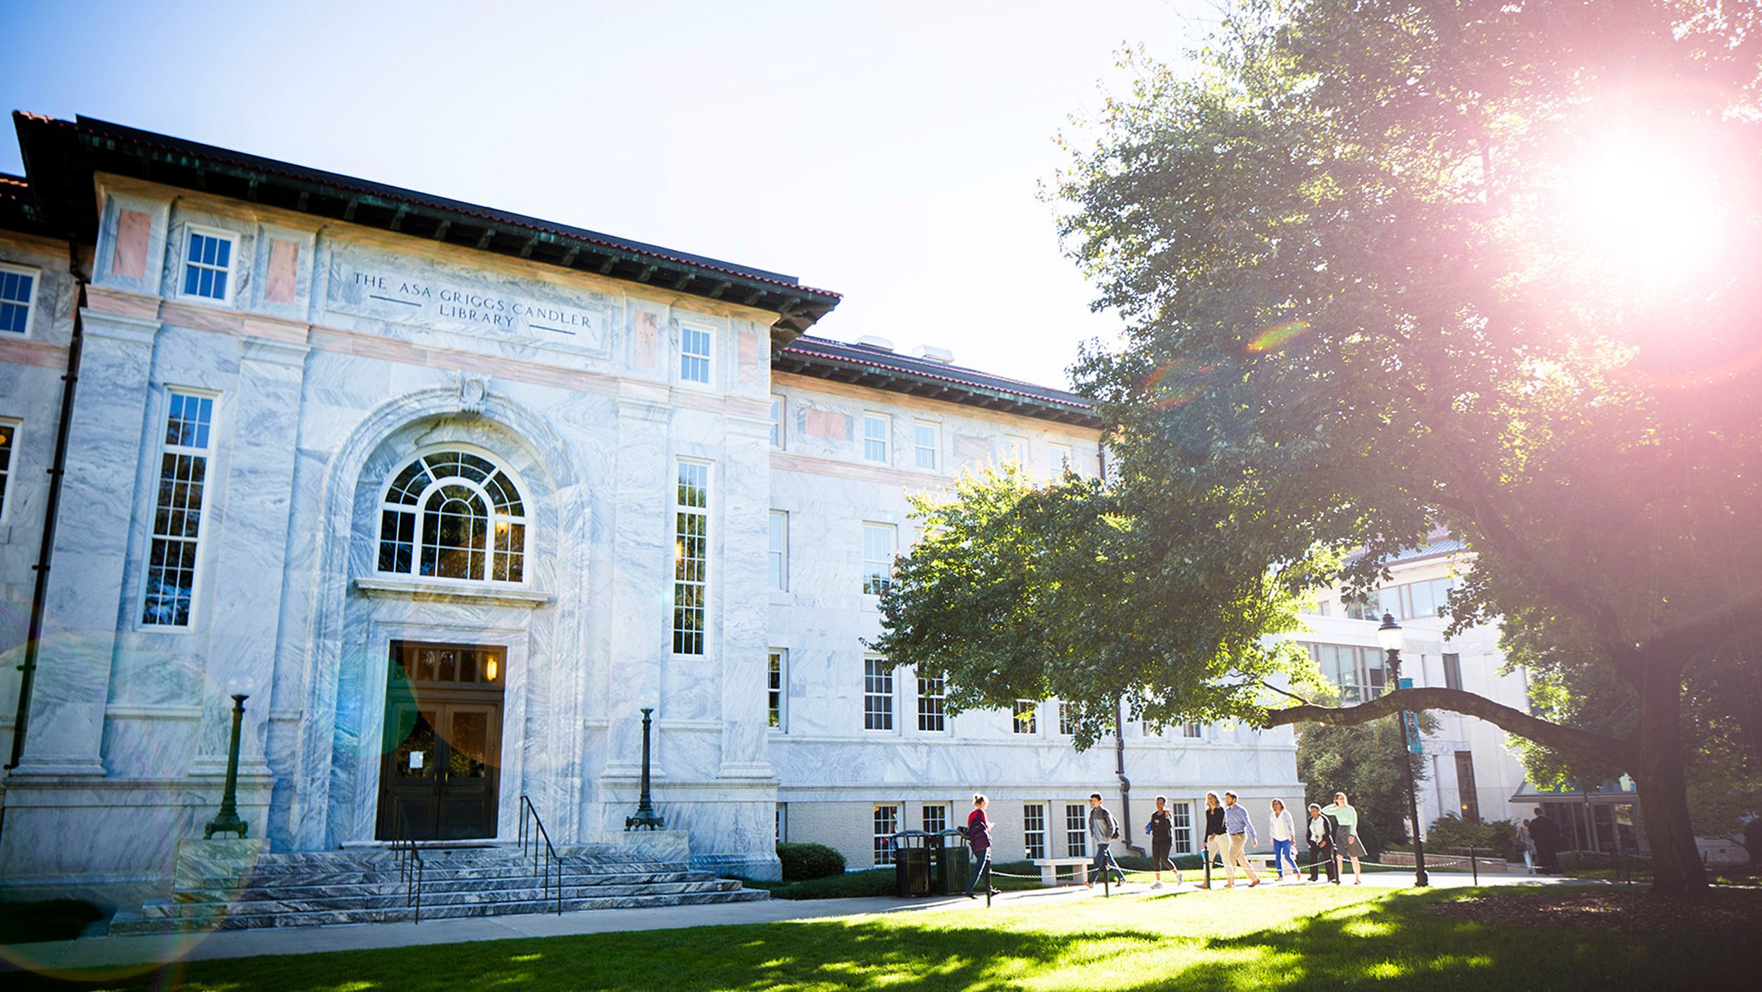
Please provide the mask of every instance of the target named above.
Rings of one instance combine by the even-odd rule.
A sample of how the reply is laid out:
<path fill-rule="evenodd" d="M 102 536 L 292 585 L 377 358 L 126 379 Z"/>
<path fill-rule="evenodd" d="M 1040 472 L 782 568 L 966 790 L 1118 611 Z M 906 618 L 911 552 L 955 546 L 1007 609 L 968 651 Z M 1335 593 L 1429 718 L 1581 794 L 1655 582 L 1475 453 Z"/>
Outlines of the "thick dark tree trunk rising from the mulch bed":
<path fill-rule="evenodd" d="M 1639 782 L 1646 840 L 1651 842 L 1651 890 L 1658 895 L 1699 895 L 1707 892 L 1707 872 L 1695 848 L 1683 779 L 1683 677 L 1670 666 L 1647 666 L 1639 696 L 1633 779 Z"/>

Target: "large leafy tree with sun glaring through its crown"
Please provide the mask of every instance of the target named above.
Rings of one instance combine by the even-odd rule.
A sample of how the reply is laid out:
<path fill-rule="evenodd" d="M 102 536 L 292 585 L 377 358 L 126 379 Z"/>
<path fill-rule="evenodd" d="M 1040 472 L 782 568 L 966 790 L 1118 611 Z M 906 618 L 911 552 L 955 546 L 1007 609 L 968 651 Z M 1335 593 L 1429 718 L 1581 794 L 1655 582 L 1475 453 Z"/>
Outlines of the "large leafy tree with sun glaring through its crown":
<path fill-rule="evenodd" d="M 1117 474 L 992 485 L 1008 553 L 930 511 L 950 537 L 900 569 L 881 647 L 974 701 L 1471 714 L 1632 774 L 1655 888 L 1704 888 L 1684 684 L 1753 678 L 1762 650 L 1758 28 L 1751 5 L 1256 2 L 1198 69 L 1133 58 L 1052 190 L 1128 322 L 1077 368 Z M 1295 659 L 1265 634 L 1293 597 L 1369 589 L 1438 525 L 1475 557 L 1452 622 L 1503 624 L 1626 717 L 1429 687 L 1279 705 Z M 957 615 L 967 580 L 985 599 Z"/>

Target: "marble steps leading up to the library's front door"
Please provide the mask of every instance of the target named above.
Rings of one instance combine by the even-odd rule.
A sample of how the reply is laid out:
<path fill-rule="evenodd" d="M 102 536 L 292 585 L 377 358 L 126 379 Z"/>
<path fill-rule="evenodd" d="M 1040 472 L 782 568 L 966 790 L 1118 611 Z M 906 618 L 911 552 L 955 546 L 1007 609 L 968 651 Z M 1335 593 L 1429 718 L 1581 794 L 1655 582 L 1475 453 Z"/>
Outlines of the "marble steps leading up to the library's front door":
<path fill-rule="evenodd" d="M 691 870 L 684 862 L 634 860 L 610 848 L 567 848 L 559 855 L 564 913 L 770 899 L 768 892 L 740 888 L 738 881 Z M 557 911 L 557 869 L 552 867 L 546 892 L 530 851 L 425 848 L 421 856 L 419 920 L 418 907 L 409 904 L 398 856 L 389 849 L 264 853 L 238 874 L 180 870 L 169 899 L 118 913 L 109 932 L 396 923 Z"/>

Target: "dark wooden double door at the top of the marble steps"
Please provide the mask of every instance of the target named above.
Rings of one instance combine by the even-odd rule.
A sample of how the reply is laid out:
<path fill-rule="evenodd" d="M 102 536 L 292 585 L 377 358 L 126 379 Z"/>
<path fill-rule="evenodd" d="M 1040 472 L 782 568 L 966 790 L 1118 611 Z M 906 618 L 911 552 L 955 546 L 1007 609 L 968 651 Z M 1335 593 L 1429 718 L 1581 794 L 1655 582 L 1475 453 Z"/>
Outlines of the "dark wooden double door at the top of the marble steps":
<path fill-rule="evenodd" d="M 398 837 L 400 803 L 416 840 L 495 837 L 506 675 L 499 647 L 391 643 L 381 840 Z"/>

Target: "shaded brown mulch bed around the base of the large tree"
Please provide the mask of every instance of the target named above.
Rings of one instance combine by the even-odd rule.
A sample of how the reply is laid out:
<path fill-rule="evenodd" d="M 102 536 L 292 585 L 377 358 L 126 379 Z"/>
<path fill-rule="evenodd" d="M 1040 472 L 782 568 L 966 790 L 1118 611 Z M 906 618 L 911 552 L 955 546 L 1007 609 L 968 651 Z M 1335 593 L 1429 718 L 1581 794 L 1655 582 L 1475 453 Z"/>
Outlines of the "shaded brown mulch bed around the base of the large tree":
<path fill-rule="evenodd" d="M 1478 923 L 1589 927 L 1598 930 L 1702 930 L 1762 934 L 1762 893 L 1709 892 L 1706 899 L 1644 890 L 1556 890 L 1477 895 L 1438 902 L 1433 913 Z"/>

